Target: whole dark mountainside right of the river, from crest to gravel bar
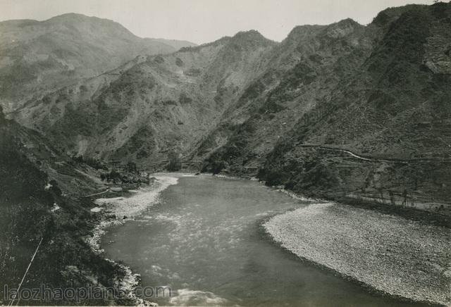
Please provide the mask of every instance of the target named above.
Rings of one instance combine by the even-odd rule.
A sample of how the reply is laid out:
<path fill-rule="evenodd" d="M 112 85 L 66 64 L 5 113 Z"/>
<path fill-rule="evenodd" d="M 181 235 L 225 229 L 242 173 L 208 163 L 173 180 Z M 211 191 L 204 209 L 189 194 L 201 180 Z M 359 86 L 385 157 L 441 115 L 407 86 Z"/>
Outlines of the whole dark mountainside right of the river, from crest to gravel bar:
<path fill-rule="evenodd" d="M 366 27 L 320 30 L 320 48 L 303 51 L 204 168 L 258 170 L 312 196 L 449 211 L 450 18 L 450 4 L 404 6 Z"/>

